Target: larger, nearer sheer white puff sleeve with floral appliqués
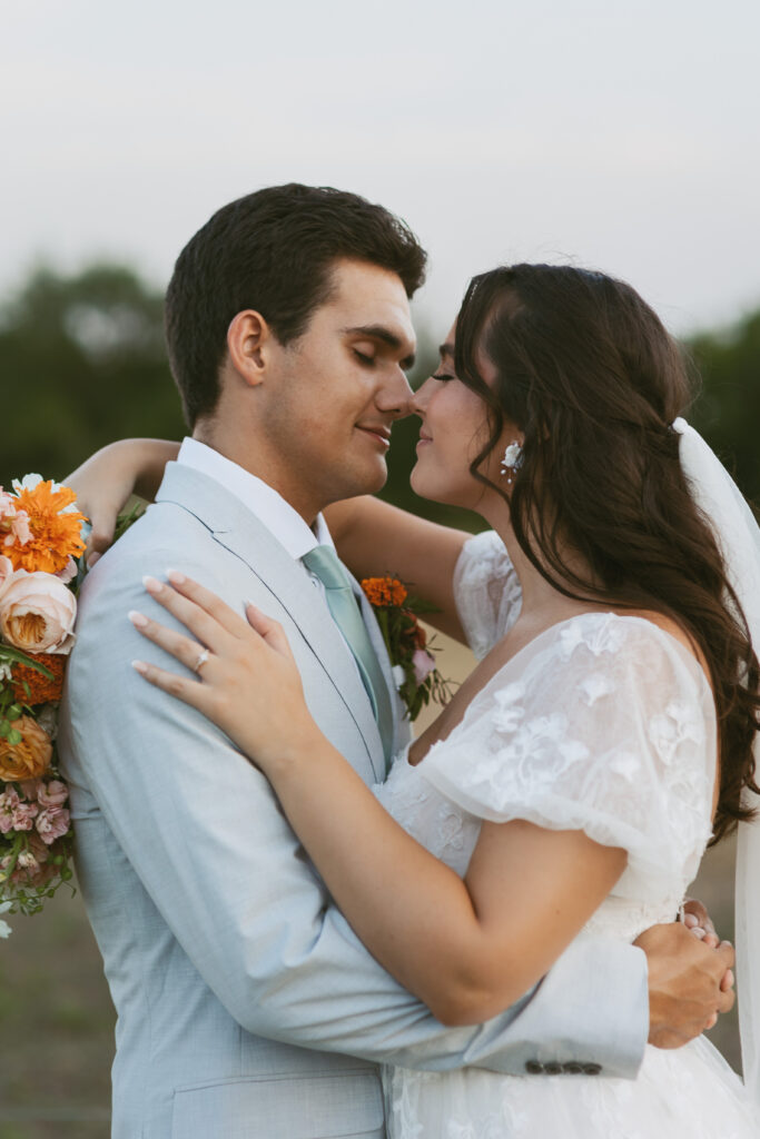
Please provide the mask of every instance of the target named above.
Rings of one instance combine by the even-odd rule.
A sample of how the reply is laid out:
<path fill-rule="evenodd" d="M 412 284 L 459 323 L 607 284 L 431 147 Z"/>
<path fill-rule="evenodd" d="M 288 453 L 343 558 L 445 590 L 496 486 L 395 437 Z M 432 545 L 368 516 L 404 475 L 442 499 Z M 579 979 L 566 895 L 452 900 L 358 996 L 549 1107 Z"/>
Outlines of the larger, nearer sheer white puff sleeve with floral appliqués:
<path fill-rule="evenodd" d="M 588 613 L 513 657 L 420 775 L 481 819 L 621 846 L 615 893 L 686 887 L 710 837 L 716 714 L 697 662 L 652 622 Z"/>

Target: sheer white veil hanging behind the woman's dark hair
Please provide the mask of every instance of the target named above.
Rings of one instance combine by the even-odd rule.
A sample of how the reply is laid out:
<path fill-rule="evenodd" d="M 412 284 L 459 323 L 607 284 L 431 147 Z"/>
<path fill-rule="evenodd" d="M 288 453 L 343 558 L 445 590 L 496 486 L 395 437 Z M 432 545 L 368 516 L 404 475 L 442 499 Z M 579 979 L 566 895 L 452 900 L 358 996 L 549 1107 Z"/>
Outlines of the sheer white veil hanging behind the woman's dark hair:
<path fill-rule="evenodd" d="M 702 436 L 684 419 L 680 460 L 692 493 L 720 542 L 728 577 L 739 599 L 760 656 L 760 527 L 730 475 Z M 760 771 L 760 736 L 754 755 Z M 760 797 L 745 792 L 747 805 Z M 760 1104 L 760 817 L 738 827 L 736 861 L 736 954 L 739 986 L 739 1029 L 744 1082 Z"/>

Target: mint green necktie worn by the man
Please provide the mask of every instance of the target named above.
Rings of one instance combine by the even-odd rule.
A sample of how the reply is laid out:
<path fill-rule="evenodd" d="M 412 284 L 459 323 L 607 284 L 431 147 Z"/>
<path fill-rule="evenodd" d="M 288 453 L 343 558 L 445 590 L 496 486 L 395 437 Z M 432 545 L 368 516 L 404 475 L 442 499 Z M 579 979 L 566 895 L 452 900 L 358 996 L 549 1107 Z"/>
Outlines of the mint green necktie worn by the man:
<path fill-rule="evenodd" d="M 325 587 L 325 596 L 333 620 L 343 633 L 359 665 L 359 673 L 371 700 L 387 761 L 393 747 L 391 699 L 377 654 L 369 639 L 357 598 L 353 596 L 351 580 L 330 546 L 316 546 L 313 550 L 304 554 L 301 560 Z"/>

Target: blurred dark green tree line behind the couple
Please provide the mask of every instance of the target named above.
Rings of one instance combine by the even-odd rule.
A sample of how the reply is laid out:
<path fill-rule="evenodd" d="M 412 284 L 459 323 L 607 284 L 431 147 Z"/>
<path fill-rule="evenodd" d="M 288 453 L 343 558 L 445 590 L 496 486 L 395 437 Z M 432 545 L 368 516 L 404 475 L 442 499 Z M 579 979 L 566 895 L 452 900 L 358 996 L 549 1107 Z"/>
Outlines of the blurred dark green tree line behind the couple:
<path fill-rule="evenodd" d="M 412 384 L 436 366 L 423 329 Z M 745 494 L 760 499 L 760 311 L 688 344 L 703 377 L 692 421 Z M 181 439 L 179 398 L 166 363 L 162 296 L 124 265 L 95 264 L 75 276 L 34 271 L 0 309 L 0 376 L 6 429 L 0 485 L 39 470 L 63 478 L 115 439 Z M 384 497 L 439 521 L 479 521 L 425 502 L 409 489 L 418 420 L 398 424 Z"/>

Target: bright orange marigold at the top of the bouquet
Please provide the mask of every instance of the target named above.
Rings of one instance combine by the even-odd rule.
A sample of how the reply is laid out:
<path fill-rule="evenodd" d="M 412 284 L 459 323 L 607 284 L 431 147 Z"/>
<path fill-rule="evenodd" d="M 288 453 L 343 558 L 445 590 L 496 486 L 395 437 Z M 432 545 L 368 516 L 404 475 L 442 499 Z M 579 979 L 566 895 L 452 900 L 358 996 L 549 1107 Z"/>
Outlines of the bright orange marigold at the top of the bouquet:
<path fill-rule="evenodd" d="M 28 516 L 31 538 L 21 542 L 8 535 L 2 552 L 10 558 L 14 570 L 41 570 L 58 573 L 70 557 L 84 552 L 82 523 L 87 519 L 79 510 L 63 513 L 76 501 L 68 486 L 52 489 L 52 482 L 38 483 L 33 490 L 22 487 L 17 494 L 18 509 Z"/>

